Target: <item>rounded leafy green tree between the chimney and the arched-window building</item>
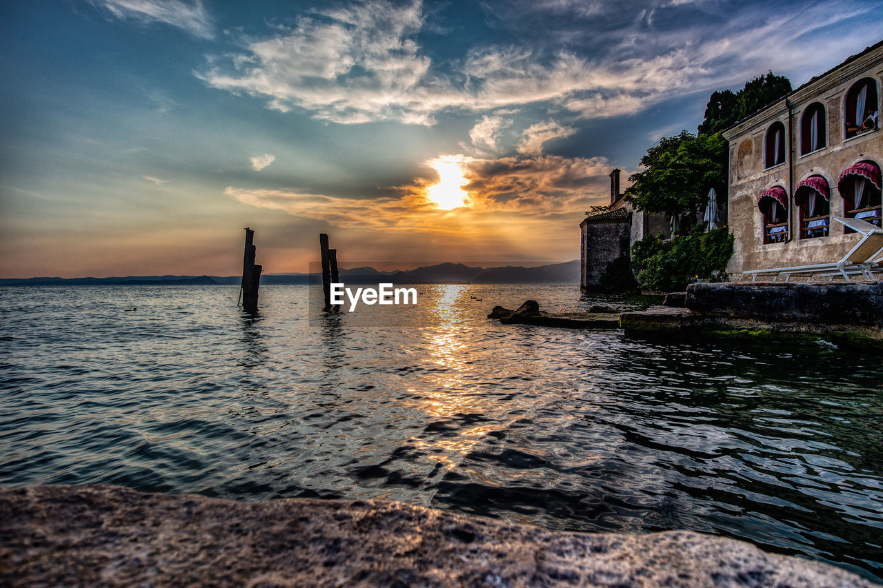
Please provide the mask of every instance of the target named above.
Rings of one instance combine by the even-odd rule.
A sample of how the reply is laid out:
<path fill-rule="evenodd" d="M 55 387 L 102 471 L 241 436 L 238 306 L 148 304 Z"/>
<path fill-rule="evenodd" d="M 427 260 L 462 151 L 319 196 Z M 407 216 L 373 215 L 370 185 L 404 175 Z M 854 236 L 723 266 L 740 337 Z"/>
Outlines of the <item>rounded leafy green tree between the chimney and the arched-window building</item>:
<path fill-rule="evenodd" d="M 719 132 L 663 138 L 641 158 L 645 170 L 629 178 L 633 184 L 625 198 L 649 213 L 695 219 L 709 189 L 726 193 L 727 156 L 727 140 Z"/>

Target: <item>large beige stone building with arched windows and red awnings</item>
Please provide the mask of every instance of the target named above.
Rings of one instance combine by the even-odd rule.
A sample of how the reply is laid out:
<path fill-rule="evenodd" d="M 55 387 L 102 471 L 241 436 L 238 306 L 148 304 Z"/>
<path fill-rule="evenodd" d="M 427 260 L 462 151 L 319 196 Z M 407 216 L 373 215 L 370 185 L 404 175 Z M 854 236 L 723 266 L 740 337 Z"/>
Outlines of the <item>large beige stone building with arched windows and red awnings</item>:
<path fill-rule="evenodd" d="M 880 226 L 883 41 L 723 132 L 728 272 L 840 260 L 856 244 L 834 216 Z"/>

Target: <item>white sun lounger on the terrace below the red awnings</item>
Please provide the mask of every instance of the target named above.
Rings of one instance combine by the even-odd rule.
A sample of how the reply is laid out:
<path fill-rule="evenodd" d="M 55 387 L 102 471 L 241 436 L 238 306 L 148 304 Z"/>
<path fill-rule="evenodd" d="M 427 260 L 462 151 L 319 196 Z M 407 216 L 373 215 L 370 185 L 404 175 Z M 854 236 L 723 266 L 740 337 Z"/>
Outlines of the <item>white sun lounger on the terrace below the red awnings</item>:
<path fill-rule="evenodd" d="M 875 282 L 874 273 L 883 272 L 883 229 L 860 218 L 834 216 L 834 220 L 846 225 L 849 229 L 855 230 L 862 236 L 858 243 L 840 261 L 819 263 L 811 266 L 795 266 L 792 268 L 751 269 L 743 273 L 751 275 L 751 282 L 756 281 L 758 275 L 772 276 L 774 282 L 779 280 L 780 275 L 785 276 L 785 282 L 788 282 L 792 276 L 804 276 L 807 279 L 818 276 L 821 278 L 826 277 L 829 280 L 833 280 L 835 277 L 842 277 L 849 282 L 850 275 L 860 275 L 867 280 Z"/>

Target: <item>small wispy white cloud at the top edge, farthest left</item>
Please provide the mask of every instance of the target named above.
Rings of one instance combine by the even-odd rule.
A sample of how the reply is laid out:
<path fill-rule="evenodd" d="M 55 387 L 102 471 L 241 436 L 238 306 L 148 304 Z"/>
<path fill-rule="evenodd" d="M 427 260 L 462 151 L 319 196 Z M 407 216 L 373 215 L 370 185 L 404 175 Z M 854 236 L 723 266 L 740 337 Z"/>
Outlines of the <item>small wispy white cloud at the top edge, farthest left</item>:
<path fill-rule="evenodd" d="M 210 39 L 212 21 L 202 0 L 87 0 L 107 11 L 112 18 L 140 23 L 162 22 L 190 34 Z"/>

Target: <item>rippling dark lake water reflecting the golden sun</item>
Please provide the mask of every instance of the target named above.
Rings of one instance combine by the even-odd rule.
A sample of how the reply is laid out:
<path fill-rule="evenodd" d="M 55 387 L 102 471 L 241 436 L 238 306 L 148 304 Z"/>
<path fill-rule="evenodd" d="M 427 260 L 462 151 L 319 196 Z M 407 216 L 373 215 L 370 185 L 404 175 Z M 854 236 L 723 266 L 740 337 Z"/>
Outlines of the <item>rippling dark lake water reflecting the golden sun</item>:
<path fill-rule="evenodd" d="M 261 288 L 257 317 L 229 286 L 0 288 L 0 485 L 691 529 L 883 581 L 878 356 L 485 318 L 599 301 L 575 286 L 329 316 L 310 288 Z"/>

